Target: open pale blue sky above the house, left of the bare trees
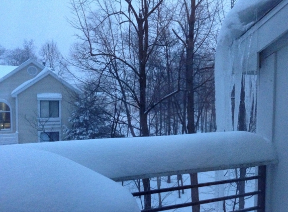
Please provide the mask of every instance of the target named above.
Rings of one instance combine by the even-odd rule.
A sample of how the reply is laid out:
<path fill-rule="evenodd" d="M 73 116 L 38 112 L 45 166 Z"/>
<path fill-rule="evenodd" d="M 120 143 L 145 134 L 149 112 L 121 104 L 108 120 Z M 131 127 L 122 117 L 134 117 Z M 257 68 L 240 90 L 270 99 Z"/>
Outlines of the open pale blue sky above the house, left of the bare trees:
<path fill-rule="evenodd" d="M 0 45 L 7 49 L 34 40 L 37 53 L 46 40 L 57 42 L 62 54 L 74 42 L 69 0 L 0 0 Z"/>

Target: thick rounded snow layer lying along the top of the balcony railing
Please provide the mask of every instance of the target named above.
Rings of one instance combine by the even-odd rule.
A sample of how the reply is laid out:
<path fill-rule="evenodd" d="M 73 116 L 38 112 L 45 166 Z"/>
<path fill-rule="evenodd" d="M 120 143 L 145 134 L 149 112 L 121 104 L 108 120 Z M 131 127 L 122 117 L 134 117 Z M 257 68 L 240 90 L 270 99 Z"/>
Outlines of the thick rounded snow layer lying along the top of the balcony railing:
<path fill-rule="evenodd" d="M 271 142 L 247 132 L 21 144 L 116 181 L 275 163 Z"/>

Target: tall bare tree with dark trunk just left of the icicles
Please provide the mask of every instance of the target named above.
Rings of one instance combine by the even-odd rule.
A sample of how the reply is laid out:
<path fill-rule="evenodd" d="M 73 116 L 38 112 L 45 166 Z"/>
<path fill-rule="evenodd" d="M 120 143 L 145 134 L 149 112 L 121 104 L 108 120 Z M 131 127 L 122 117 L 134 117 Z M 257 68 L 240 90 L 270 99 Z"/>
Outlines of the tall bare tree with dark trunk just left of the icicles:
<path fill-rule="evenodd" d="M 213 73 L 203 82 L 197 80 L 200 55 L 203 49 L 212 49 L 215 45 L 217 18 L 219 17 L 219 1 L 215 0 L 183 0 L 179 4 L 179 19 L 175 20 L 179 29 L 173 30 L 174 34 L 182 42 L 185 49 L 185 84 L 187 97 L 187 126 L 188 134 L 197 132 L 200 115 L 203 112 L 204 104 L 201 106 L 200 114 L 196 113 L 196 92 L 197 89 L 207 81 L 213 80 Z M 203 68 L 203 67 L 202 67 Z M 213 65 L 208 67 L 213 69 Z M 198 174 L 190 174 L 191 184 L 198 184 Z M 191 198 L 193 202 L 199 201 L 198 188 L 191 189 Z M 193 212 L 200 211 L 200 205 L 192 207 Z"/>

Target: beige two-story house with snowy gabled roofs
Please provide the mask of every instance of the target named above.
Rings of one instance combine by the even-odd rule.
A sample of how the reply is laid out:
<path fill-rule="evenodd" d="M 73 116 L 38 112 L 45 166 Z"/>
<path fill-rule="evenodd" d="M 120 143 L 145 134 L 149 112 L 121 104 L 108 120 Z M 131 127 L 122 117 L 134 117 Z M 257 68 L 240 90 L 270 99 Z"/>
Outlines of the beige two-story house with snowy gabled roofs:
<path fill-rule="evenodd" d="M 0 66 L 0 144 L 64 139 L 78 89 L 33 59 Z"/>

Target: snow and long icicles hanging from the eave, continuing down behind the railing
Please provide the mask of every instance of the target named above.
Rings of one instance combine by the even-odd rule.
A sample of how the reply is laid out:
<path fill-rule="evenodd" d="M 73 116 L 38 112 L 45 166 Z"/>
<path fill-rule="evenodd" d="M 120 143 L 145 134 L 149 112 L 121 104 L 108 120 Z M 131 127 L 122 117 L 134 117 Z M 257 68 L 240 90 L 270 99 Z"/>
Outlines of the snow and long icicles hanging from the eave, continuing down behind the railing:
<path fill-rule="evenodd" d="M 218 36 L 215 59 L 216 124 L 218 132 L 238 130 L 242 76 L 245 91 L 246 130 L 254 130 L 251 128 L 250 120 L 255 119 L 256 116 L 257 52 L 253 44 L 256 43 L 257 31 L 250 30 L 252 32 L 249 35 L 242 35 L 258 20 L 258 17 L 255 17 L 257 10 L 267 8 L 272 1 L 239 0 L 224 20 Z M 233 89 L 235 89 L 235 105 L 232 116 L 231 98 Z M 255 122 L 255 120 L 253 121 Z M 224 171 L 216 171 L 215 178 L 216 180 L 223 180 Z M 225 191 L 224 187 L 216 186 L 215 188 L 216 197 L 223 196 L 227 192 L 229 192 L 229 189 Z M 222 212 L 223 202 L 215 203 L 215 210 L 216 212 Z"/>

